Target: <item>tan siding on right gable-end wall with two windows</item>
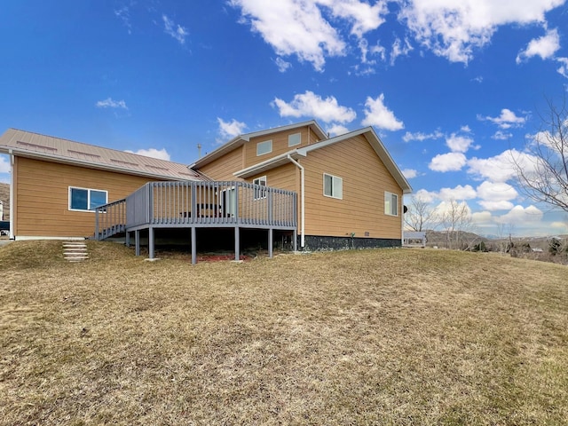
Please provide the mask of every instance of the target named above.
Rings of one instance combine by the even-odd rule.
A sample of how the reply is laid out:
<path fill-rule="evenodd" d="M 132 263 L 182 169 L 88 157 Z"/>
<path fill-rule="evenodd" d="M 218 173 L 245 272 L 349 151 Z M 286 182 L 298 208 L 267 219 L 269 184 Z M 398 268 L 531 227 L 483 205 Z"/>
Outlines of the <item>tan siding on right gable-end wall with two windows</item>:
<path fill-rule="evenodd" d="M 363 136 L 312 151 L 306 170 L 306 234 L 401 238 L 402 190 Z M 343 200 L 323 195 L 323 173 L 343 178 Z M 398 216 L 384 214 L 384 192 L 398 194 Z"/>

